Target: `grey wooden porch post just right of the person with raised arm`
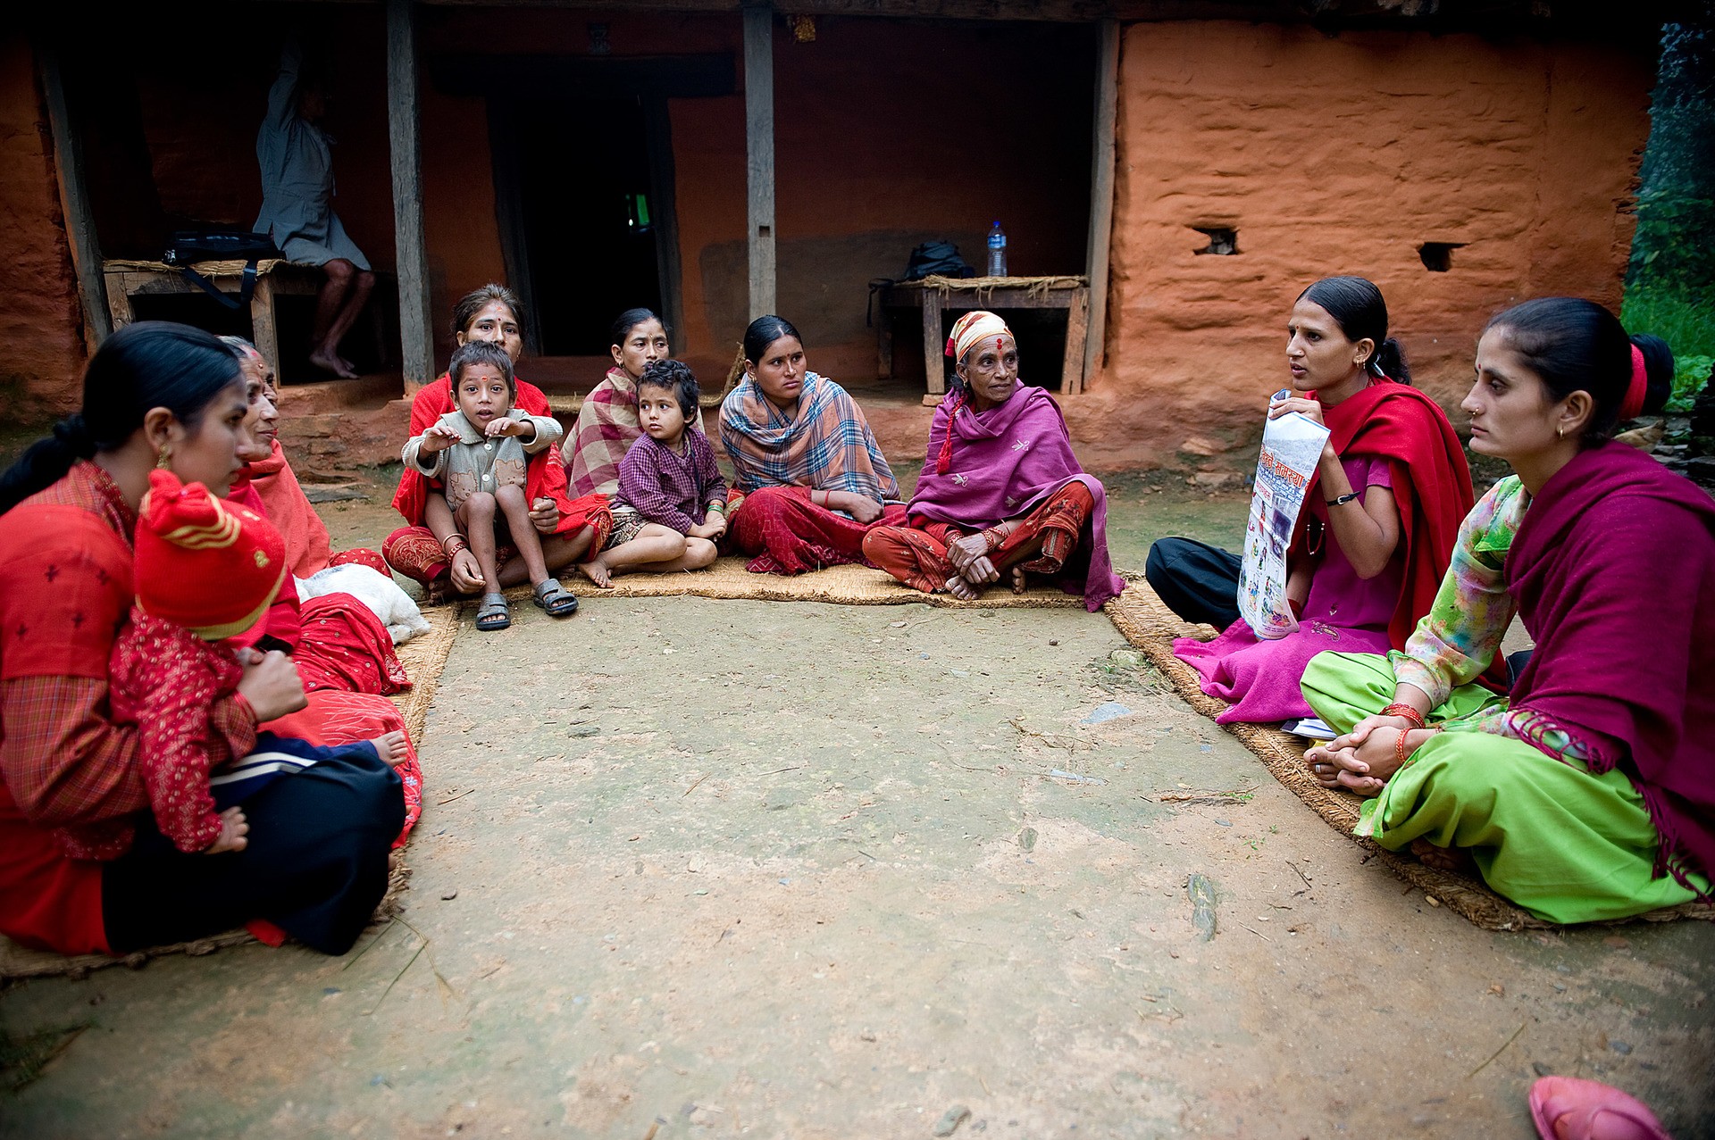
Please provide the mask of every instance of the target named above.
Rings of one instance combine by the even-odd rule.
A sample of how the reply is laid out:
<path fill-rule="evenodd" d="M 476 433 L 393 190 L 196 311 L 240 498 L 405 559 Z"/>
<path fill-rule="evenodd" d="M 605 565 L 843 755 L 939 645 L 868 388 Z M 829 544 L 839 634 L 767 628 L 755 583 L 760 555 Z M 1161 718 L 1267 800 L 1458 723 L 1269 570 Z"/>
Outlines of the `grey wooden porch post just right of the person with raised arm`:
<path fill-rule="evenodd" d="M 398 247 L 400 348 L 405 394 L 436 375 L 429 336 L 429 254 L 424 249 L 417 120 L 417 27 L 412 0 L 388 0 L 388 141 L 393 149 L 393 238 Z"/>

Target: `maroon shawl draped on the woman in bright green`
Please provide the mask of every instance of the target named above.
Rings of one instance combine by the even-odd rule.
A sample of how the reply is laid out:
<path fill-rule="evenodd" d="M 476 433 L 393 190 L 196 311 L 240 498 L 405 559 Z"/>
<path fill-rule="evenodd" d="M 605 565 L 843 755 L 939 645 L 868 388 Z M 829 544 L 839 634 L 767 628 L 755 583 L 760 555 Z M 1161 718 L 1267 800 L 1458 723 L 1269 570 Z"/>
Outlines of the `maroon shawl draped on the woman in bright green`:
<path fill-rule="evenodd" d="M 1653 458 L 1605 442 L 1525 513 L 1506 586 L 1537 639 L 1513 706 L 1593 746 L 1660 835 L 1657 874 L 1715 874 L 1715 502 Z"/>

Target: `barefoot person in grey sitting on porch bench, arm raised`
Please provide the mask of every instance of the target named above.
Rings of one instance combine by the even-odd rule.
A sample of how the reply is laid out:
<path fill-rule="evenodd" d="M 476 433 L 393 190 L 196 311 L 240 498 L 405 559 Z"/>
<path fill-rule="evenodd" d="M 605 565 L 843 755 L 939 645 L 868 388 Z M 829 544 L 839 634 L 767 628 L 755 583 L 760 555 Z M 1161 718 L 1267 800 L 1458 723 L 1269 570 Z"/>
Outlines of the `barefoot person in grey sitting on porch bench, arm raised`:
<path fill-rule="evenodd" d="M 300 266 L 321 266 L 328 279 L 316 297 L 310 363 L 341 377 L 355 377 L 340 355 L 340 341 L 376 288 L 364 250 L 333 213 L 333 139 L 321 129 L 328 106 L 324 75 L 307 69 L 304 50 L 288 41 L 280 53 L 280 77 L 268 93 L 268 118 L 256 132 L 256 159 L 262 166 L 262 213 L 256 231 Z"/>

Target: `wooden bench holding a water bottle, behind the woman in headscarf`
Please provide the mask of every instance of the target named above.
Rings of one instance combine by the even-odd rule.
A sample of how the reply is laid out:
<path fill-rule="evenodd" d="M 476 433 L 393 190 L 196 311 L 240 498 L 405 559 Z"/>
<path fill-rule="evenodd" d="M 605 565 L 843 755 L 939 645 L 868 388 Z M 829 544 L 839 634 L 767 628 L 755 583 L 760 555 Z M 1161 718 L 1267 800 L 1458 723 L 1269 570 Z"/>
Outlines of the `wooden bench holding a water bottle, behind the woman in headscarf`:
<path fill-rule="evenodd" d="M 947 333 L 942 314 L 948 309 L 1065 309 L 1067 350 L 1060 363 L 1060 391 L 1084 391 L 1084 338 L 1089 334 L 1089 278 L 942 278 L 894 281 L 878 288 L 882 314 L 876 329 L 876 375 L 894 375 L 894 317 L 888 310 L 923 310 L 923 370 L 930 396 L 947 391 Z"/>

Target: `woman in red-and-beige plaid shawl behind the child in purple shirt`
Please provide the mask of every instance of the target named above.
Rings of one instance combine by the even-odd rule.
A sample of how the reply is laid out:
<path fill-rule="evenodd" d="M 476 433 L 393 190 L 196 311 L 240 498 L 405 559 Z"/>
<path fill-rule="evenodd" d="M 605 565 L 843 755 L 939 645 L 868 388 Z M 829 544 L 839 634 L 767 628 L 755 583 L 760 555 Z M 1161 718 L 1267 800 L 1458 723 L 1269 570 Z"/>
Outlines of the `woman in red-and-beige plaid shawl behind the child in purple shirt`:
<path fill-rule="evenodd" d="M 614 367 L 583 398 L 578 422 L 559 446 L 566 459 L 566 483 L 575 495 L 612 499 L 619 494 L 619 461 L 643 435 L 638 381 L 643 369 L 667 358 L 667 326 L 648 309 L 626 309 L 614 321 L 614 343 L 607 351 Z M 693 427 L 703 430 L 701 408 Z"/>

